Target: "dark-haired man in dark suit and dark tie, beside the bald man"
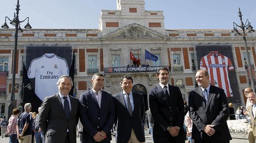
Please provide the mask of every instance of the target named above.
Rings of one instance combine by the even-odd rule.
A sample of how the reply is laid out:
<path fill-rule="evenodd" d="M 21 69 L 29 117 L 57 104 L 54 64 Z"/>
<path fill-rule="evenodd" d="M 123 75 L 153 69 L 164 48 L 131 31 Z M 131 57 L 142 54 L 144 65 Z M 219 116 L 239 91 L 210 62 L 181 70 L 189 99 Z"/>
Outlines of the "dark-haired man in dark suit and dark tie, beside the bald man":
<path fill-rule="evenodd" d="M 154 143 L 185 143 L 184 104 L 179 87 L 168 84 L 166 67 L 159 68 L 156 76 L 159 84 L 149 92 Z"/>

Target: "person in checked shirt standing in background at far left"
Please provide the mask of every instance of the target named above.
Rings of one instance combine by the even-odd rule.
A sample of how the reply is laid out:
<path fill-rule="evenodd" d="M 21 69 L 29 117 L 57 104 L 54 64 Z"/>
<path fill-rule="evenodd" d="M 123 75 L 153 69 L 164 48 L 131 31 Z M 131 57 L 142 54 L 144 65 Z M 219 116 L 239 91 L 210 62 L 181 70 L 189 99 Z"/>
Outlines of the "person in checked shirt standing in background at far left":
<path fill-rule="evenodd" d="M 18 124 L 17 117 L 19 115 L 20 115 L 20 110 L 18 108 L 14 108 L 12 110 L 12 116 L 9 119 L 9 124 L 7 126 L 7 132 L 6 132 L 10 138 L 9 143 L 18 143 L 16 126 Z"/>

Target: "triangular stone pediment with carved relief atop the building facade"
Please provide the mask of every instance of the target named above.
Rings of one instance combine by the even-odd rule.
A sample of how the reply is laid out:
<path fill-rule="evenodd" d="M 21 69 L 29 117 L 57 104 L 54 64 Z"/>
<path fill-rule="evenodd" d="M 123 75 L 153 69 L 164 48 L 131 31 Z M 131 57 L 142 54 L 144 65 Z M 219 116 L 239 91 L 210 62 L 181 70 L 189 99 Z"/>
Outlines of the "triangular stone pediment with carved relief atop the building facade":
<path fill-rule="evenodd" d="M 137 23 L 133 23 L 104 35 L 100 39 L 169 39 L 169 37 Z"/>

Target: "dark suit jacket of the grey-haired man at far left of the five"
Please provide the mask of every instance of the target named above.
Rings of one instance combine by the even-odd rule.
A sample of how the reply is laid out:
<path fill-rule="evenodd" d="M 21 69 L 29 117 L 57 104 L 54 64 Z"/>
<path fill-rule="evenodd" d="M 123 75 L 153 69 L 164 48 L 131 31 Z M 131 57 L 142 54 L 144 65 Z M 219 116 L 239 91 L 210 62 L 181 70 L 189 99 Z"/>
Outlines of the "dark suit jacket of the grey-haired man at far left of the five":
<path fill-rule="evenodd" d="M 77 122 L 79 119 L 79 100 L 69 96 L 71 112 L 66 118 L 59 94 L 45 97 L 39 114 L 39 127 L 45 135 L 45 143 L 65 143 L 69 129 L 70 143 L 77 141 Z"/>

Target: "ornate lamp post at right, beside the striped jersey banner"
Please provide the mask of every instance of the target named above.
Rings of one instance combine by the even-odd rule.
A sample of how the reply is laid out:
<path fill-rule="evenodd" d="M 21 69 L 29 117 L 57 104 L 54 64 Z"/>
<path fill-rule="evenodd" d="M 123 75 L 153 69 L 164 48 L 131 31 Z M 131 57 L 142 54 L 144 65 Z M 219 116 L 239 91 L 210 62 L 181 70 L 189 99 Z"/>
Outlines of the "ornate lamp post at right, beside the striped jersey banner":
<path fill-rule="evenodd" d="M 248 52 L 248 47 L 247 47 L 247 42 L 246 42 L 246 37 L 245 37 L 245 29 L 248 30 L 248 32 L 254 32 L 254 30 L 252 29 L 251 23 L 249 22 L 249 20 L 247 19 L 245 21 L 245 24 L 243 23 L 242 20 L 242 12 L 240 11 L 239 8 L 239 12 L 238 12 L 238 16 L 240 17 L 240 25 L 236 24 L 235 22 L 233 22 L 233 30 L 232 32 L 235 33 L 235 35 L 240 35 L 239 31 L 237 30 L 237 27 L 240 27 L 242 29 L 242 35 L 243 35 L 243 40 L 244 40 L 244 48 L 245 48 L 245 52 L 246 52 L 246 58 L 248 61 L 248 70 L 249 70 L 249 74 L 250 74 L 250 78 L 251 78 L 251 85 L 252 85 L 252 89 L 255 92 L 255 83 L 254 83 L 254 79 L 253 79 L 253 75 L 252 75 L 252 65 L 251 65 L 251 60 L 249 58 L 249 52 Z M 236 25 L 236 27 L 235 27 Z"/>

